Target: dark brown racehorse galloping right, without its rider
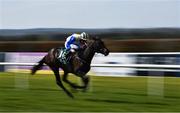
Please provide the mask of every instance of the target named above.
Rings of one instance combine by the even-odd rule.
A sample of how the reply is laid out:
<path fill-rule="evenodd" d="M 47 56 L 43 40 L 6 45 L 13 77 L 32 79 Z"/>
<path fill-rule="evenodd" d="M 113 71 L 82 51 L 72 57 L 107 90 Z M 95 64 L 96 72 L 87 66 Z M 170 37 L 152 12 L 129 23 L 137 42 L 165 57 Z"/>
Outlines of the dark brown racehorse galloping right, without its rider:
<path fill-rule="evenodd" d="M 84 89 L 86 90 L 89 82 L 89 76 L 86 74 L 90 70 L 90 64 L 91 61 L 95 55 L 95 53 L 101 53 L 105 56 L 109 54 L 109 50 L 105 46 L 104 42 L 100 38 L 92 38 L 87 41 L 86 48 L 84 50 L 78 51 L 78 57 L 80 60 L 76 60 L 75 57 L 72 57 L 70 60 L 70 63 L 63 64 L 62 62 L 59 62 L 58 56 L 59 53 L 62 50 L 59 48 L 52 48 L 47 55 L 45 55 L 37 65 L 35 65 L 31 69 L 31 74 L 34 75 L 37 70 L 40 70 L 43 64 L 46 64 L 50 67 L 50 69 L 54 72 L 54 75 L 56 77 L 56 83 L 59 87 L 61 87 L 68 96 L 73 98 L 73 95 L 64 87 L 62 84 L 60 74 L 59 74 L 59 68 L 61 68 L 64 71 L 64 75 L 62 76 L 62 80 L 66 83 L 68 83 L 72 88 L 74 89 Z M 75 55 L 74 55 L 75 56 Z M 83 85 L 79 86 L 72 82 L 70 82 L 67 77 L 68 73 L 73 73 L 76 76 L 80 77 L 83 81 Z"/>

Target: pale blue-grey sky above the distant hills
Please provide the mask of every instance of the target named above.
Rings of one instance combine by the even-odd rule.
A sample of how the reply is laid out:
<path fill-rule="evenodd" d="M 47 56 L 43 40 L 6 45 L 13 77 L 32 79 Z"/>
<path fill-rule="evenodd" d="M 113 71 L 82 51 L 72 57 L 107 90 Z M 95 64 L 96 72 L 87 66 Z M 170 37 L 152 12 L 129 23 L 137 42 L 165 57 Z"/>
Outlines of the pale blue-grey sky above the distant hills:
<path fill-rule="evenodd" d="M 180 27 L 180 0 L 0 0 L 0 29 Z"/>

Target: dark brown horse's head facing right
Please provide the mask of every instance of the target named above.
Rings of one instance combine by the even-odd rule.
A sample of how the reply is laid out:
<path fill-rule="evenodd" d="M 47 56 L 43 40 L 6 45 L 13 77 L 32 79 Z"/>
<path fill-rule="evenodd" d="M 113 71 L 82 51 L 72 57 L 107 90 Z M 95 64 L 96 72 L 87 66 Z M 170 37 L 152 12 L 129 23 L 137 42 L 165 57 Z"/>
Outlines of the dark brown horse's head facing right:
<path fill-rule="evenodd" d="M 98 37 L 93 38 L 93 40 L 94 40 L 95 52 L 101 53 L 101 54 L 107 56 L 109 54 L 109 50 L 105 46 L 104 42 Z"/>

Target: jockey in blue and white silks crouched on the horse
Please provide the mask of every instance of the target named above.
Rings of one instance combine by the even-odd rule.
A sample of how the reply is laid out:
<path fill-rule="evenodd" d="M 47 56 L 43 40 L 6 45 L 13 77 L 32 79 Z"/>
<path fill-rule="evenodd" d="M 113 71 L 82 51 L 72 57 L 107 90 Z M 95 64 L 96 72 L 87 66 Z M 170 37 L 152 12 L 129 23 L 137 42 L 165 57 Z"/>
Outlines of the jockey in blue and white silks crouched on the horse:
<path fill-rule="evenodd" d="M 70 52 L 75 53 L 76 50 L 81 48 L 82 42 L 86 42 L 88 38 L 88 34 L 82 32 L 81 34 L 72 34 L 71 36 L 67 37 L 65 42 L 66 50 L 70 50 Z"/>

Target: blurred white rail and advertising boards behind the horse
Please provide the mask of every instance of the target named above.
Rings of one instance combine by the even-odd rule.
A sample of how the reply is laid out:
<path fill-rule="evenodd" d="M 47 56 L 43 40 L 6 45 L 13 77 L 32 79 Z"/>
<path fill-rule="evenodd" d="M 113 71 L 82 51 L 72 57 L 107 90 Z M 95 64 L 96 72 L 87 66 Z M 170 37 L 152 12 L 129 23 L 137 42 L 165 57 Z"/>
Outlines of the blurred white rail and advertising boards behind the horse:
<path fill-rule="evenodd" d="M 6 53 L 5 62 L 0 65 L 9 68 L 36 65 L 46 53 Z M 180 52 L 160 53 L 110 53 L 96 54 L 92 60 L 91 72 L 98 75 L 136 75 L 137 71 L 180 72 Z"/>

